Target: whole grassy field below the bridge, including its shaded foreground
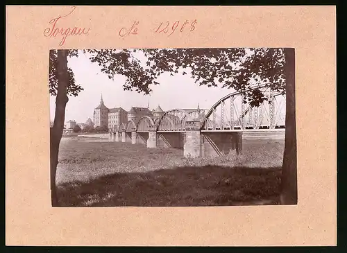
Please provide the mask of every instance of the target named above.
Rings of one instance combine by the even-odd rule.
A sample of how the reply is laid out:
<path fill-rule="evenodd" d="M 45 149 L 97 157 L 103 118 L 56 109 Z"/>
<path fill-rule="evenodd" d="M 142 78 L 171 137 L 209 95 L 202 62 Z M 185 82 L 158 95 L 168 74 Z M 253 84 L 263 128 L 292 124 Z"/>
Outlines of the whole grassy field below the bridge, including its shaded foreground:
<path fill-rule="evenodd" d="M 283 140 L 244 141 L 243 155 L 187 159 L 183 150 L 71 137 L 60 143 L 63 207 L 278 204 Z"/>

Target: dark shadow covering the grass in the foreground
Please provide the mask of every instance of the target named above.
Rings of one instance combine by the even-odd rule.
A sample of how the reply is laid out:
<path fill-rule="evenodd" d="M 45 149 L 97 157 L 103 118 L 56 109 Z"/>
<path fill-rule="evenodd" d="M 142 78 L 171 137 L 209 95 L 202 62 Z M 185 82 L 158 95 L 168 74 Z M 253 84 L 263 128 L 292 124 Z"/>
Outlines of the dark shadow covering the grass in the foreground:
<path fill-rule="evenodd" d="M 62 207 L 278 204 L 281 168 L 177 167 L 58 186 Z"/>

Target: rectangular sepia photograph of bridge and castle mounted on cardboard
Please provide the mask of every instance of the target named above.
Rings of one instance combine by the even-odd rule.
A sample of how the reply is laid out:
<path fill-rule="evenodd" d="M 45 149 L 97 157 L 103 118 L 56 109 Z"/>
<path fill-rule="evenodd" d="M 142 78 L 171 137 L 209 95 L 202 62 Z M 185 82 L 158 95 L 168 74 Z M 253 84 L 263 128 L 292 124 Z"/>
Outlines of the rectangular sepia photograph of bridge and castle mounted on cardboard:
<path fill-rule="evenodd" d="M 295 50 L 49 51 L 53 207 L 297 204 Z"/>

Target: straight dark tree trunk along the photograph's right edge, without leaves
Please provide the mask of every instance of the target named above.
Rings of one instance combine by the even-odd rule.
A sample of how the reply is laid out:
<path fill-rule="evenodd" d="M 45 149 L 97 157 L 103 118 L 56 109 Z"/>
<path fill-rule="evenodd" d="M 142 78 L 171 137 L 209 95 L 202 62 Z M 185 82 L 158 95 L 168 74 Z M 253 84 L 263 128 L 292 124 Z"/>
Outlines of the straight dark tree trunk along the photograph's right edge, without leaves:
<path fill-rule="evenodd" d="M 285 49 L 286 117 L 285 152 L 283 155 L 281 204 L 298 203 L 296 175 L 296 116 L 295 116 L 295 50 Z"/>

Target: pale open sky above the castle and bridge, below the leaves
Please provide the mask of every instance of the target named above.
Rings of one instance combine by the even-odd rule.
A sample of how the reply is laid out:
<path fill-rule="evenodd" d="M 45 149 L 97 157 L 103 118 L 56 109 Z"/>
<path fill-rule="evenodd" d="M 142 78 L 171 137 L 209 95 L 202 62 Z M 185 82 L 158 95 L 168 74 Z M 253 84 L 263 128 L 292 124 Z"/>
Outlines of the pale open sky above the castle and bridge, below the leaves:
<path fill-rule="evenodd" d="M 65 112 L 65 122 L 75 120 L 84 123 L 90 117 L 93 120 L 94 108 L 99 105 L 101 94 L 108 108 L 122 107 L 130 110 L 130 107 L 149 107 L 152 110 L 158 105 L 167 111 L 174 108 L 200 108 L 210 109 L 214 103 L 227 94 L 231 89 L 220 87 L 198 86 L 190 75 L 176 74 L 170 76 L 164 73 L 158 78 L 160 85 L 151 87 L 151 96 L 138 94 L 137 91 L 124 91 L 124 76 L 117 76 L 110 80 L 101 73 L 96 63 L 90 62 L 81 54 L 78 58 L 71 58 L 69 67 L 74 71 L 76 83 L 83 87 L 78 96 L 69 96 Z M 50 96 L 50 119 L 53 121 L 56 107 L 56 97 Z"/>

